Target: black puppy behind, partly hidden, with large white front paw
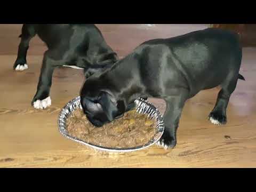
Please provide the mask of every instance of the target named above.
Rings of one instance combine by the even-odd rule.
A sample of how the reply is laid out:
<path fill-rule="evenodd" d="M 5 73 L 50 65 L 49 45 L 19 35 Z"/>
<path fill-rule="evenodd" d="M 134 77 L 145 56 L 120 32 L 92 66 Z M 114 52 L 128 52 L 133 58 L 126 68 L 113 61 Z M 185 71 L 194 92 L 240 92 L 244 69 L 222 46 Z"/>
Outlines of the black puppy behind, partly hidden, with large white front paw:
<path fill-rule="evenodd" d="M 13 69 L 28 69 L 27 51 L 29 41 L 38 35 L 48 50 L 44 53 L 43 66 L 32 105 L 37 109 L 51 106 L 50 89 L 52 74 L 56 67 L 77 66 L 85 76 L 111 67 L 117 54 L 107 45 L 100 30 L 92 24 L 25 24 L 22 27 L 18 58 Z M 90 68 L 95 65 L 97 68 Z"/>

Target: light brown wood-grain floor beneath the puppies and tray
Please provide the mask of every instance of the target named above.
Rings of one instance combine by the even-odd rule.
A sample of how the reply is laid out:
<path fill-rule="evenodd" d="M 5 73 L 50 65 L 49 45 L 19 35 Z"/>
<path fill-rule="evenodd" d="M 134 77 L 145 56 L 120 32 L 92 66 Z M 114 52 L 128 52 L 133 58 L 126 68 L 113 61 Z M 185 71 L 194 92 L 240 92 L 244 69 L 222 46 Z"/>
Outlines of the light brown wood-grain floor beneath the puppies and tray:
<path fill-rule="evenodd" d="M 206 25 L 98 25 L 122 57 L 151 38 L 165 38 L 203 29 Z M 199 93 L 186 103 L 173 150 L 156 146 L 130 154 L 103 154 L 63 138 L 58 132 L 60 109 L 78 95 L 81 70 L 55 71 L 53 105 L 45 111 L 30 106 L 36 92 L 42 55 L 38 38 L 30 45 L 29 69 L 12 70 L 21 25 L 0 25 L 0 167 L 256 167 L 256 49 L 244 49 L 241 74 L 230 99 L 228 124 L 207 121 L 218 89 Z M 161 100 L 151 100 L 164 111 Z"/>

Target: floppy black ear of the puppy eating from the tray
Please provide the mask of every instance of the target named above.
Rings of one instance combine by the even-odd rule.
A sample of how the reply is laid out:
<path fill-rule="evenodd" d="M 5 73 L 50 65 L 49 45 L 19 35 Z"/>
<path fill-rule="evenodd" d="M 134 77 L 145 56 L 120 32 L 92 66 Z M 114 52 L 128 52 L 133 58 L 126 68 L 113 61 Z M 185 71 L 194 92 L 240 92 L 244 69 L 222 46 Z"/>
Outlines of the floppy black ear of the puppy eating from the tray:
<path fill-rule="evenodd" d="M 99 97 L 99 103 L 105 111 L 108 120 L 111 122 L 115 119 L 115 116 L 118 114 L 118 108 L 114 101 L 111 101 L 111 96 L 106 92 L 101 92 Z"/>

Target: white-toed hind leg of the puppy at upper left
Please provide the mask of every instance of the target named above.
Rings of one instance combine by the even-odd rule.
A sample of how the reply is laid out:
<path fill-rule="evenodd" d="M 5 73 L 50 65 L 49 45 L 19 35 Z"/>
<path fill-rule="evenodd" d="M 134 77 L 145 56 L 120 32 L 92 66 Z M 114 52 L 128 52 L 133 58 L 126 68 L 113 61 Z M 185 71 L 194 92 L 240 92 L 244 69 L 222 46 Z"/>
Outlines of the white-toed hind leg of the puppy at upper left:
<path fill-rule="evenodd" d="M 36 30 L 33 25 L 25 24 L 22 26 L 21 42 L 18 50 L 18 57 L 14 63 L 13 69 L 23 71 L 28 69 L 27 65 L 27 51 L 31 38 L 36 35 Z"/>

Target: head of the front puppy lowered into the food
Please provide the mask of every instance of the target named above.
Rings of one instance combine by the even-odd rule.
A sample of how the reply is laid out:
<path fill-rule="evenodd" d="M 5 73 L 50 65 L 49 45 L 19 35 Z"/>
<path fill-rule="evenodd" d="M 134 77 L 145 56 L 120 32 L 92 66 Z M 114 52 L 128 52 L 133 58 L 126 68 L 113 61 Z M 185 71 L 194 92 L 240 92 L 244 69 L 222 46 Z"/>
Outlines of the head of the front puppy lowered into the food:
<path fill-rule="evenodd" d="M 123 101 L 117 101 L 110 92 L 90 89 L 90 87 L 82 90 L 81 105 L 89 121 L 97 127 L 110 123 L 116 117 L 125 113 Z"/>

